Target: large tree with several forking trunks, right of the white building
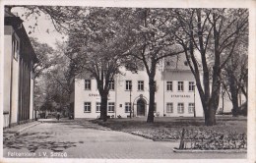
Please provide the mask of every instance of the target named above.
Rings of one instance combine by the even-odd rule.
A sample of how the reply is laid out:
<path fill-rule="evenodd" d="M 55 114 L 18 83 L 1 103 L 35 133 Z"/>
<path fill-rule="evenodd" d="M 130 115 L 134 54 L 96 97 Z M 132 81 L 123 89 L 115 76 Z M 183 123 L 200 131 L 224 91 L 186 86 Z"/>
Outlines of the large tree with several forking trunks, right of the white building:
<path fill-rule="evenodd" d="M 205 124 L 215 125 L 221 73 L 233 55 L 238 38 L 247 31 L 248 10 L 177 9 L 174 14 L 177 28 L 170 32 L 185 50 L 201 97 Z M 203 79 L 200 78 L 201 70 Z"/>

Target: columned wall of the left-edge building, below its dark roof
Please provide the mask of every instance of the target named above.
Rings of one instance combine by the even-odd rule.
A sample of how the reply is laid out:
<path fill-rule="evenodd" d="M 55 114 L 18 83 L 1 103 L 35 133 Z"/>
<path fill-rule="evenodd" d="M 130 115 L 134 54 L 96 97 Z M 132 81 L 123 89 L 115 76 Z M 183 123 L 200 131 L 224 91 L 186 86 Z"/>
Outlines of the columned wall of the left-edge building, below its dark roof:
<path fill-rule="evenodd" d="M 10 120 L 11 126 L 13 126 L 26 123 L 29 119 L 32 119 L 33 83 L 30 84 L 33 82 L 30 72 L 32 58 L 30 58 L 31 55 L 29 54 L 33 51 L 32 47 L 28 46 L 28 42 L 26 42 L 29 38 L 26 37 L 25 34 L 27 33 L 24 28 L 18 28 L 14 31 L 13 27 L 5 26 L 4 34 L 3 127 L 8 127 Z M 16 58 L 14 58 L 13 54 L 13 40 L 18 41 Z M 21 42 L 25 43 L 24 48 L 21 48 Z M 24 60 L 25 57 L 28 60 L 22 65 L 21 59 L 23 58 Z M 21 84 L 21 81 L 24 83 Z M 26 105 L 24 101 L 27 102 Z"/>

